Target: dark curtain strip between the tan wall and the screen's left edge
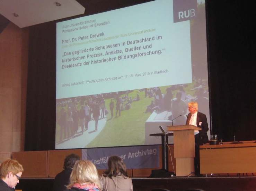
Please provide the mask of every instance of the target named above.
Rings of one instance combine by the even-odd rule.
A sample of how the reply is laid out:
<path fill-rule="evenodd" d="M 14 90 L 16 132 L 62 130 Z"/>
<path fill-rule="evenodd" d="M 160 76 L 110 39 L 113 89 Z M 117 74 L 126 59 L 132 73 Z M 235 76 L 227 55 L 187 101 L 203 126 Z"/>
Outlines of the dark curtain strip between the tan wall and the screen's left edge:
<path fill-rule="evenodd" d="M 29 29 L 25 151 L 55 149 L 55 22 Z"/>

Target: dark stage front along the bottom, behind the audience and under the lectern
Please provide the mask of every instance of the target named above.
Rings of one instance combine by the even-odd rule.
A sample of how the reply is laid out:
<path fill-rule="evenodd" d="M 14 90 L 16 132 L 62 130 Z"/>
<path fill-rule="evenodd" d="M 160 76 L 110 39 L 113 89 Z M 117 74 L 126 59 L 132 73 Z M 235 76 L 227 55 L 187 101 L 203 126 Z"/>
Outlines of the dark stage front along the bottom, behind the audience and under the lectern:
<path fill-rule="evenodd" d="M 237 174 L 236 174 L 237 175 Z M 248 174 L 249 175 L 249 174 Z M 16 189 L 22 191 L 51 191 L 54 179 L 20 179 Z M 255 191 L 256 177 L 235 175 L 212 177 L 173 177 L 173 178 L 132 178 L 134 191 L 151 191 L 165 188 L 170 191 L 184 191 L 198 188 L 205 191 Z"/>

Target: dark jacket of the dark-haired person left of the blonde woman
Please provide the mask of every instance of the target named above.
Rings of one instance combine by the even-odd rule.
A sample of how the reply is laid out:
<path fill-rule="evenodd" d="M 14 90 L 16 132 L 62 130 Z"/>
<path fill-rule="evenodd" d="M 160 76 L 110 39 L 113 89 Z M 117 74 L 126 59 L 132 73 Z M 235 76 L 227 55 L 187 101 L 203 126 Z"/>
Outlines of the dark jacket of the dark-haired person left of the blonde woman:
<path fill-rule="evenodd" d="M 54 179 L 53 189 L 52 191 L 63 191 L 66 190 L 67 187 L 65 185 L 69 184 L 69 177 L 72 172 L 71 168 L 64 169 L 59 174 L 56 175 Z"/>

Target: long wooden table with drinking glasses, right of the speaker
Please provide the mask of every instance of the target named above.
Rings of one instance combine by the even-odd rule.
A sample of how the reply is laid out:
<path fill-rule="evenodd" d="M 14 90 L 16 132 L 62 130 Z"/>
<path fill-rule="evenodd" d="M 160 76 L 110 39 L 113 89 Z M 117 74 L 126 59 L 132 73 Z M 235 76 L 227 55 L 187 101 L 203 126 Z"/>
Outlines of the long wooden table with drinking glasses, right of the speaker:
<path fill-rule="evenodd" d="M 243 144 L 200 146 L 200 173 L 255 173 L 256 172 L 256 143 L 254 141 L 242 141 Z"/>

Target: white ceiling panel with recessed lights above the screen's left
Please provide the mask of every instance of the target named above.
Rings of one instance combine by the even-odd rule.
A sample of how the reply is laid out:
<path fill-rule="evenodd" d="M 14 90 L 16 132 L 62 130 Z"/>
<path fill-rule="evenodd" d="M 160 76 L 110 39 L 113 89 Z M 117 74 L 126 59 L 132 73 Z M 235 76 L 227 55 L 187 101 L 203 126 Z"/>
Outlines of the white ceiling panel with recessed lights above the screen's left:
<path fill-rule="evenodd" d="M 20 28 L 83 13 L 85 7 L 76 0 L 0 0 L 0 14 Z"/>

